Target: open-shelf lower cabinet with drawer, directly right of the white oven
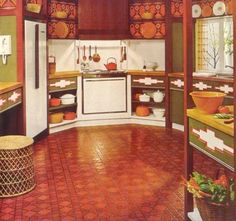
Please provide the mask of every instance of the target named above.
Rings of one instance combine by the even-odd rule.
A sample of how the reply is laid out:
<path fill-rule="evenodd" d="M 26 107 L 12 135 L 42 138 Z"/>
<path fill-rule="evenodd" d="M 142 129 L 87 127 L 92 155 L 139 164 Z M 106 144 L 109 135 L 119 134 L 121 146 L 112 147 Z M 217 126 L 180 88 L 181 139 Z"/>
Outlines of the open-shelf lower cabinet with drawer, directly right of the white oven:
<path fill-rule="evenodd" d="M 142 119 L 160 120 L 164 121 L 164 117 L 157 117 L 153 114 L 154 108 L 165 108 L 164 99 L 161 102 L 155 102 L 153 94 L 157 91 L 164 95 L 164 75 L 154 76 L 154 75 L 132 75 L 131 76 L 131 97 L 132 97 L 132 116 Z M 148 102 L 140 101 L 140 95 L 146 94 L 150 96 Z M 150 110 L 150 115 L 145 117 L 140 117 L 136 115 L 136 108 L 138 106 L 148 107 Z"/>

